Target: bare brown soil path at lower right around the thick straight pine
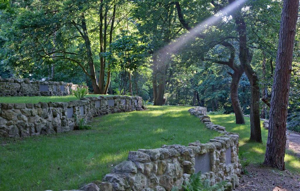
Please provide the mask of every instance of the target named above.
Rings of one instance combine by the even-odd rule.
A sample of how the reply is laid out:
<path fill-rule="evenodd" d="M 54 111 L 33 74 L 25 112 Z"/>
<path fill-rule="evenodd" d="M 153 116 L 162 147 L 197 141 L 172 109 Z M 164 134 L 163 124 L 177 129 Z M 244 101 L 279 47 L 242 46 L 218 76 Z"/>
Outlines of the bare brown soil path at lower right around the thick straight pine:
<path fill-rule="evenodd" d="M 288 138 L 288 152 L 300 157 L 300 134 L 290 132 Z M 299 174 L 254 164 L 250 164 L 246 169 L 249 173 L 242 175 L 240 186 L 235 191 L 300 191 Z"/>

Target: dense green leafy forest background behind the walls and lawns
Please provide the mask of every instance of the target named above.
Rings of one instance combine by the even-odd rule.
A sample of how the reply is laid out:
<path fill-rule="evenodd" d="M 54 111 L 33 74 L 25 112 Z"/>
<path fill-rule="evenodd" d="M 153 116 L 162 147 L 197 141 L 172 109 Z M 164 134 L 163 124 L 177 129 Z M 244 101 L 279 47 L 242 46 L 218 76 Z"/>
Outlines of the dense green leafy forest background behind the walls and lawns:
<path fill-rule="evenodd" d="M 230 2 L 230 1 L 229 1 Z M 235 19 L 224 14 L 201 35 L 166 54 L 228 1 L 23 0 L 1 1 L 0 76 L 86 84 L 91 93 L 131 94 L 155 104 L 200 105 L 233 113 L 231 83 L 241 68 Z M 282 1 L 246 1 L 250 67 L 257 79 L 261 118 L 271 87 Z M 288 128 L 300 131 L 300 46 L 297 23 Z M 164 57 L 168 57 L 165 59 Z M 230 63 L 234 63 L 234 67 Z M 238 71 L 238 70 L 237 70 Z M 250 113 L 250 82 L 243 71 L 238 97 Z"/>

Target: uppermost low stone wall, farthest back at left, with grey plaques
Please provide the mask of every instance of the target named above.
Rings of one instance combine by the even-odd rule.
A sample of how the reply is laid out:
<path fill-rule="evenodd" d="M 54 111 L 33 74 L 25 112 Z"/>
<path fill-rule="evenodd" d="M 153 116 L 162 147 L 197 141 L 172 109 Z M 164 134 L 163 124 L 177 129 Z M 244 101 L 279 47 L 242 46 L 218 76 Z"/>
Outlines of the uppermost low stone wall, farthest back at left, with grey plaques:
<path fill-rule="evenodd" d="M 82 85 L 0 77 L 0 96 L 67 96 Z"/>

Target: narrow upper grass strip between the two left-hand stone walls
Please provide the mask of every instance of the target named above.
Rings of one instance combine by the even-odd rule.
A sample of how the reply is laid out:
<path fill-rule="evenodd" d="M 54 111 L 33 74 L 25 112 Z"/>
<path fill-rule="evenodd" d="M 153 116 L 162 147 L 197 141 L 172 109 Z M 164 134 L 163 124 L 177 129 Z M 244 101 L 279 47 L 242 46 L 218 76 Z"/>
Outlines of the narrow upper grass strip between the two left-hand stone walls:
<path fill-rule="evenodd" d="M 115 95 L 100 95 L 88 94 L 85 97 L 98 97 L 98 96 L 115 96 Z M 7 96 L 0 97 L 0 103 L 38 103 L 38 102 L 68 102 L 76 100 L 75 96 Z"/>

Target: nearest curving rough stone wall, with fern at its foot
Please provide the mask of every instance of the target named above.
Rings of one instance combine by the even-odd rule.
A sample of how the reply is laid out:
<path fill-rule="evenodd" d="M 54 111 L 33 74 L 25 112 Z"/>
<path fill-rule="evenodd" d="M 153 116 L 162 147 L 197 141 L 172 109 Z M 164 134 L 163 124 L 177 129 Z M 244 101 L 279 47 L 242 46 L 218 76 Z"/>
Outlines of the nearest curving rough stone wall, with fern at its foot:
<path fill-rule="evenodd" d="M 238 159 L 238 134 L 229 133 L 214 125 L 206 108 L 196 107 L 189 112 L 197 116 L 210 129 L 223 134 L 207 143 L 196 141 L 183 145 L 163 145 L 157 149 L 130 151 L 128 160 L 115 166 L 113 172 L 101 181 L 94 181 L 83 191 L 170 191 L 188 181 L 190 175 L 201 171 L 202 178 L 211 184 L 229 181 L 239 185 L 241 165 Z"/>

